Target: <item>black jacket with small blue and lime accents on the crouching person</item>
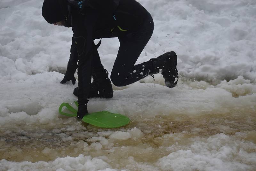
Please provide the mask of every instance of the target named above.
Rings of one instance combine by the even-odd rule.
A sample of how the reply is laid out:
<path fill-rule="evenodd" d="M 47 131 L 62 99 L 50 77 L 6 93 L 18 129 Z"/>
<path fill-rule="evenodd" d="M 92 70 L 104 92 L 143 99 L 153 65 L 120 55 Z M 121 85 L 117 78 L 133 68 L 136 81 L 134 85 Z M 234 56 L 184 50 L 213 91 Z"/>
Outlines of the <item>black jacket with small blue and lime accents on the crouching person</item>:
<path fill-rule="evenodd" d="M 83 10 L 68 5 L 68 21 L 73 30 L 67 70 L 78 62 L 78 104 L 87 103 L 92 77 L 94 39 L 118 37 L 136 31 L 150 15 L 135 0 L 84 0 Z"/>

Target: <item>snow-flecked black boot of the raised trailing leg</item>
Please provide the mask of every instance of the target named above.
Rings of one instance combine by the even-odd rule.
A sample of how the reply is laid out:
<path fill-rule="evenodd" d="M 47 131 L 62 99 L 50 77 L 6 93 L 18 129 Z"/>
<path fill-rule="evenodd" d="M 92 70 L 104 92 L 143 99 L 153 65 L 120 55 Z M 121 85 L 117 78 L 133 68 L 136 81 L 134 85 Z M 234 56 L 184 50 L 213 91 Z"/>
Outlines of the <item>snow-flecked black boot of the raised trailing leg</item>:
<path fill-rule="evenodd" d="M 169 88 L 175 87 L 178 82 L 179 74 L 177 70 L 177 55 L 174 51 L 166 52 L 163 55 L 150 59 L 151 70 L 149 74 L 156 74 L 162 69 L 165 85 Z"/>

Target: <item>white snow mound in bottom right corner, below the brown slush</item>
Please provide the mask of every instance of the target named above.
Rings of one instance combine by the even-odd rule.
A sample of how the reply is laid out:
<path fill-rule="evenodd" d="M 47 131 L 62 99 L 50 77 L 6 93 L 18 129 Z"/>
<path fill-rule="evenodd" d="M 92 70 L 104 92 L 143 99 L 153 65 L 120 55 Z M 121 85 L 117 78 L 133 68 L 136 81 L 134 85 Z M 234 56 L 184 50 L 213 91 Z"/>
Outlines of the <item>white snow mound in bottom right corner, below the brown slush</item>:
<path fill-rule="evenodd" d="M 232 141 L 232 137 L 224 134 L 203 138 L 201 142 L 193 142 L 189 150 L 172 152 L 159 159 L 158 165 L 163 170 L 252 170 L 253 167 L 239 161 L 245 156 L 248 159 L 252 157 L 250 153 L 241 148 L 240 145 L 244 142 L 235 140 L 230 144 L 229 141 Z M 255 144 L 250 145 L 255 148 Z M 252 163 L 256 161 L 255 159 L 249 160 Z"/>

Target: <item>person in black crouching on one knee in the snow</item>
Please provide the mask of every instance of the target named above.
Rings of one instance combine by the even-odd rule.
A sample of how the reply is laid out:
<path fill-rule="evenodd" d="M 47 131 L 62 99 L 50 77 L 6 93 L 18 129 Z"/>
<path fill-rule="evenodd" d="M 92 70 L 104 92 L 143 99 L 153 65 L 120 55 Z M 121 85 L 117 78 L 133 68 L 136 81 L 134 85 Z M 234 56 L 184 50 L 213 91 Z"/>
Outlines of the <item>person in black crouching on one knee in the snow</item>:
<path fill-rule="evenodd" d="M 75 84 L 74 74 L 78 70 L 78 88 L 74 89 L 77 118 L 88 113 L 88 98 L 113 97 L 111 81 L 116 86 L 125 86 L 161 70 L 166 86 L 176 86 L 178 71 L 174 51 L 135 65 L 154 29 L 150 13 L 135 0 L 44 0 L 42 15 L 50 24 L 72 27 L 70 57 L 60 83 L 71 80 Z M 93 42 L 110 37 L 118 37 L 120 42 L 111 81 L 97 51 L 100 43 Z"/>

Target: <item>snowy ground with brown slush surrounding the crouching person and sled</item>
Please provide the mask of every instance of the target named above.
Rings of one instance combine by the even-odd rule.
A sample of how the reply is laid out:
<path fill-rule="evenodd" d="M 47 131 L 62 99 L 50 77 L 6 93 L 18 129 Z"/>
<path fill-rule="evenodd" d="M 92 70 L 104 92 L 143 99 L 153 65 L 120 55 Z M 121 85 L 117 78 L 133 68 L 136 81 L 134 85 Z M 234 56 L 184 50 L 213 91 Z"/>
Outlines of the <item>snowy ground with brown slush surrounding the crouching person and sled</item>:
<path fill-rule="evenodd" d="M 60 84 L 72 30 L 48 24 L 42 2 L 0 3 L 0 170 L 255 170 L 254 0 L 138 0 L 155 29 L 136 63 L 175 51 L 180 78 L 170 89 L 155 74 L 90 99 L 89 112 L 132 120 L 115 129 L 58 114 L 76 101 L 77 81 Z M 118 48 L 102 39 L 109 74 Z"/>

